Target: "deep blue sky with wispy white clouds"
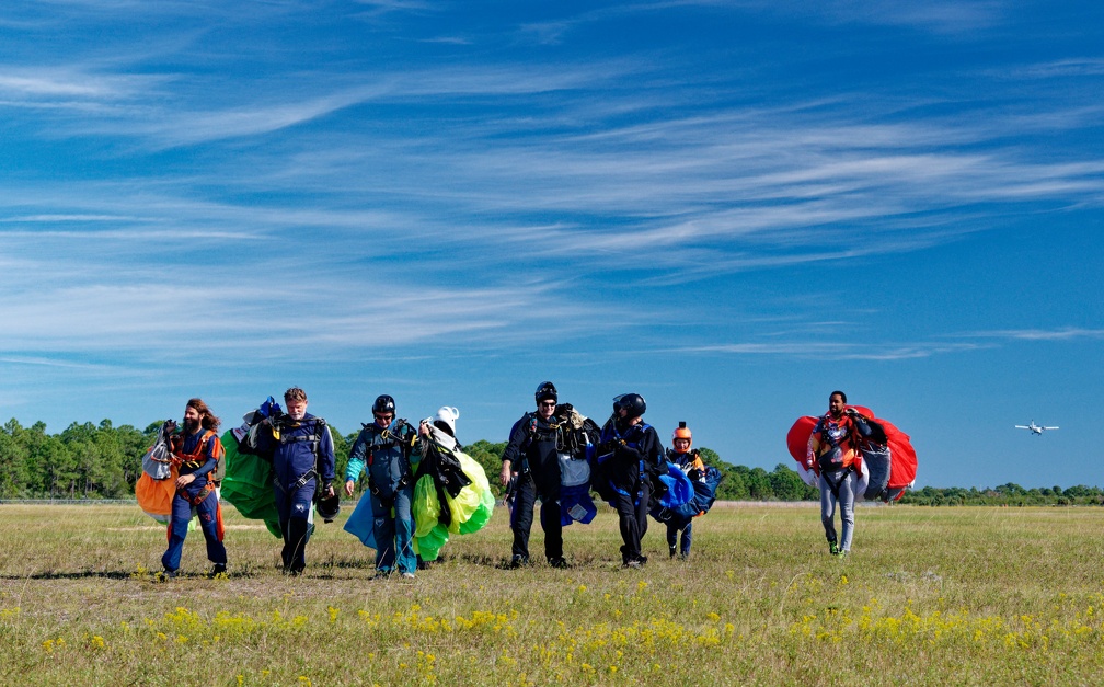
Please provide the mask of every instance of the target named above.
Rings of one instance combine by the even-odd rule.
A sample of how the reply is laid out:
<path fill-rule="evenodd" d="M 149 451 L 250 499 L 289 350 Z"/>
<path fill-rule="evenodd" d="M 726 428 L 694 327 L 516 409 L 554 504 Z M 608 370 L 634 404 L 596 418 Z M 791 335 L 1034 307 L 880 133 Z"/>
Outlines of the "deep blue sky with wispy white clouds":
<path fill-rule="evenodd" d="M 6 2 L 0 416 L 550 379 L 773 469 L 840 388 L 917 486 L 1104 484 L 1104 11 L 902 4 Z"/>

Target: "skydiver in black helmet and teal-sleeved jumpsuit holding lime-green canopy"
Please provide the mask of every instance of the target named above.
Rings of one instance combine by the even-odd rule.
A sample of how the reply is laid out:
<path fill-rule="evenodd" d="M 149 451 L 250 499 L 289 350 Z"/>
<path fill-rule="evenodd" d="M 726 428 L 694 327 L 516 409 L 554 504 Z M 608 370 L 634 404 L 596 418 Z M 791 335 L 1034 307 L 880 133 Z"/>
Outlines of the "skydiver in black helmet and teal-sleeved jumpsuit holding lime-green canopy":
<path fill-rule="evenodd" d="M 395 400 L 381 395 L 372 403 L 371 424 L 365 424 L 352 445 L 346 467 L 346 494 L 352 496 L 361 472 L 368 466 L 372 498 L 372 533 L 375 537 L 375 574 L 390 575 L 395 567 L 414 578 L 414 469 L 421 454 L 414 451 L 417 431 L 395 418 Z"/>

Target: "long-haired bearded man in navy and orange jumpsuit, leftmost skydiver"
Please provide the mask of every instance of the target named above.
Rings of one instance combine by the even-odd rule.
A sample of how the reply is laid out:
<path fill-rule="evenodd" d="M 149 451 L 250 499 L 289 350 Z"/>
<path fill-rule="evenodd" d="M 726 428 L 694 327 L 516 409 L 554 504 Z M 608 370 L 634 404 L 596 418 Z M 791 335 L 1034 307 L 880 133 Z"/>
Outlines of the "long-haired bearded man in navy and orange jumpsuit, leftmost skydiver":
<path fill-rule="evenodd" d="M 177 467 L 177 493 L 169 518 L 169 548 L 161 557 L 163 579 L 177 577 L 180 556 L 188 536 L 192 511 L 199 515 L 206 540 L 208 559 L 214 563 L 210 577 L 226 572 L 226 547 L 222 543 L 222 508 L 214 489 L 213 475 L 225 452 L 219 441 L 219 418 L 201 399 L 184 406 L 184 424 L 169 440 L 171 463 Z"/>

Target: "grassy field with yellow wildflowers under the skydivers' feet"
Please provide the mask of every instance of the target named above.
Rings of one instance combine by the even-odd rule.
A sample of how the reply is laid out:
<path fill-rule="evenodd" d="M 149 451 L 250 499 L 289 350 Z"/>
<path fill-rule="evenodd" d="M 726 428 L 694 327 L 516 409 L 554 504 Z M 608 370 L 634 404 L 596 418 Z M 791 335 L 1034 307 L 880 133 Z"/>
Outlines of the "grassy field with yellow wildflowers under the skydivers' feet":
<path fill-rule="evenodd" d="M 348 509 L 342 510 L 342 516 Z M 0 506 L 3 684 L 1102 684 L 1104 509 L 860 508 L 830 558 L 809 507 L 718 507 L 690 561 L 623 570 L 616 519 L 565 530 L 572 568 L 503 570 L 506 512 L 413 582 L 320 525 L 307 573 L 226 509 L 158 583 L 137 507 Z M 539 526 L 533 553 L 542 559 Z"/>

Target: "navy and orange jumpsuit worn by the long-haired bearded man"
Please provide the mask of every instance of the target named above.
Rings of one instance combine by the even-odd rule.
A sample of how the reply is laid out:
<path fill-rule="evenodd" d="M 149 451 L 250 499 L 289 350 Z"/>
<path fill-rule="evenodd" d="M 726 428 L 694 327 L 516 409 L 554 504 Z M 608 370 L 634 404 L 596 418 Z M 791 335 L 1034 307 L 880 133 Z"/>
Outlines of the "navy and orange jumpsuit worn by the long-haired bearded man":
<path fill-rule="evenodd" d="M 180 554 L 184 549 L 184 537 L 188 536 L 193 506 L 200 516 L 200 528 L 206 540 L 208 559 L 215 566 L 225 566 L 226 547 L 219 537 L 219 495 L 208 482 L 223 456 L 219 435 L 213 432 L 209 435 L 206 430 L 194 434 L 178 434 L 173 437 L 172 445 L 178 447 L 173 451 L 173 457 L 178 461 L 184 458 L 180 463 L 179 474 L 195 475 L 195 480 L 183 489 L 178 489 L 172 497 L 169 548 L 161 557 L 161 566 L 169 572 L 176 572 L 180 568 Z"/>

